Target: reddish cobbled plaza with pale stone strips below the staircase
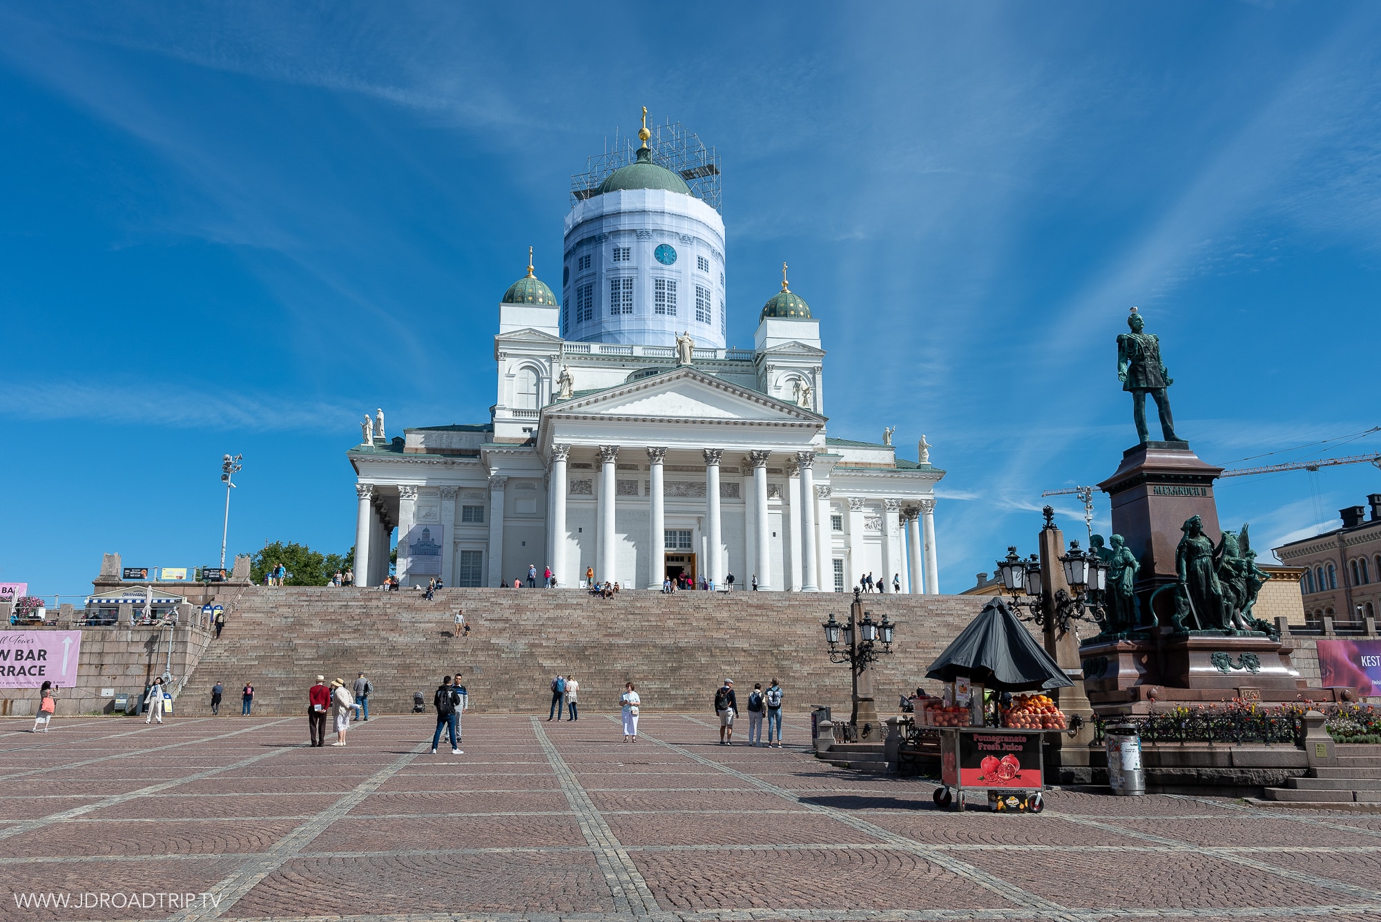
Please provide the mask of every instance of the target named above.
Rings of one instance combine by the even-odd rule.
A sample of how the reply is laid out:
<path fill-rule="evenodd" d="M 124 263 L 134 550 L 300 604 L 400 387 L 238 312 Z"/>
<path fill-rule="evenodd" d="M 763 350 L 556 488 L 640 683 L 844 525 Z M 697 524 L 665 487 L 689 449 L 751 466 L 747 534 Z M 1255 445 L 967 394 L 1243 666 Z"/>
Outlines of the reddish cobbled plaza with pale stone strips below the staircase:
<path fill-rule="evenodd" d="M 464 755 L 434 756 L 427 715 L 320 752 L 305 718 L 7 720 L 0 918 L 1381 918 L 1377 814 L 942 813 L 923 781 L 720 747 L 699 715 L 648 715 L 638 744 L 579 723 L 471 715 Z"/>

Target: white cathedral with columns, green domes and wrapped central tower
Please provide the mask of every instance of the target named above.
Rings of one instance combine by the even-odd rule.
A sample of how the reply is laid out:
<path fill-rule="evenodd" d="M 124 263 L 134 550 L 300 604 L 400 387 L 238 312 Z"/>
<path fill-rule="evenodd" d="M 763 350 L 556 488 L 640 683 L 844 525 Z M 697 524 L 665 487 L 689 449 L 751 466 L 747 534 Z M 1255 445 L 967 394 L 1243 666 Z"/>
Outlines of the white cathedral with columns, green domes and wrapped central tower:
<path fill-rule="evenodd" d="M 938 592 L 924 438 L 907 461 L 826 435 L 820 322 L 784 271 L 753 349 L 725 346 L 724 221 L 639 137 L 566 215 L 561 298 L 532 265 L 504 294 L 489 421 L 388 440 L 381 418 L 349 450 L 356 582 L 388 576 L 396 527 L 405 585 Z"/>

